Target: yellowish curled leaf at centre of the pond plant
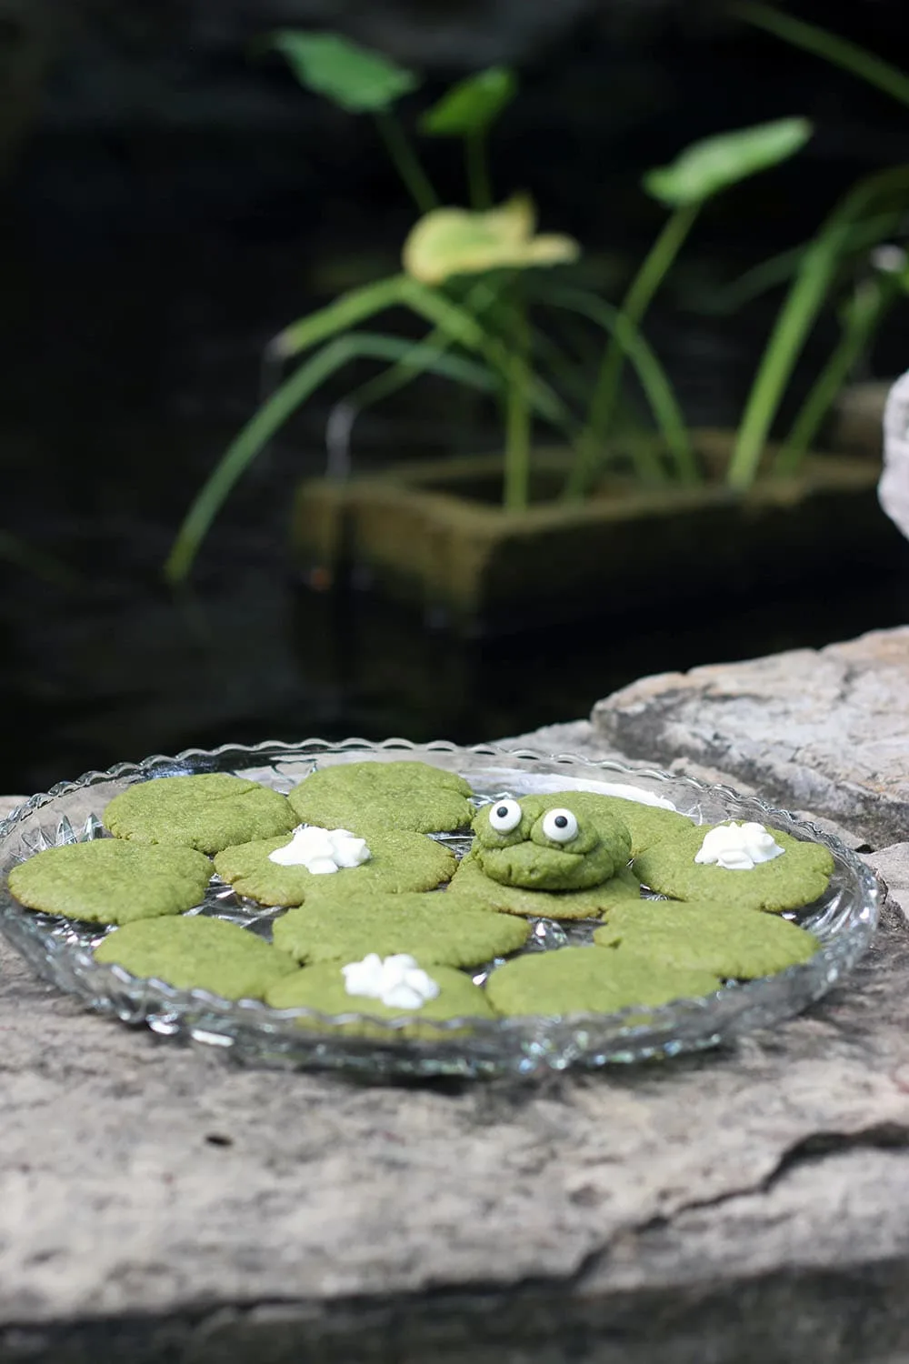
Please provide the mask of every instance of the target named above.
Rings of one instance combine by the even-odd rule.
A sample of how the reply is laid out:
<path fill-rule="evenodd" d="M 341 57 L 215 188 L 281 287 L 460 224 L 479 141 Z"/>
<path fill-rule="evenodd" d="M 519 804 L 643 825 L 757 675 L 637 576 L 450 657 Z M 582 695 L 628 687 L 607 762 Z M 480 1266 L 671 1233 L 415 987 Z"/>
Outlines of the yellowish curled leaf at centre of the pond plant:
<path fill-rule="evenodd" d="M 497 209 L 433 209 L 420 218 L 403 247 L 403 267 L 421 284 L 442 284 L 454 274 L 523 270 L 576 261 L 581 247 L 568 236 L 534 236 L 536 214 L 523 195 Z"/>

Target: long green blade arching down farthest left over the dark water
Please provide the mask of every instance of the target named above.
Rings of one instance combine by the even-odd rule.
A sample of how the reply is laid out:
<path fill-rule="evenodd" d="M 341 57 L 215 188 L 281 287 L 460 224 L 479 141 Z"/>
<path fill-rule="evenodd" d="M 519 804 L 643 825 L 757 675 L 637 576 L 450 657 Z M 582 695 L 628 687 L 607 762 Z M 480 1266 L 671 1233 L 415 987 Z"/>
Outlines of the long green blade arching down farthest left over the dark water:
<path fill-rule="evenodd" d="M 356 359 L 397 361 L 412 349 L 413 342 L 402 341 L 399 337 L 357 331 L 328 341 L 304 361 L 243 427 L 198 492 L 165 562 L 165 578 L 176 584 L 187 577 L 199 546 L 237 480 L 275 431 L 335 371 Z M 451 356 L 424 356 L 422 364 L 425 370 L 437 368 L 444 374 L 451 368 Z M 457 381 L 476 387 L 488 387 L 487 372 L 478 366 L 459 366 Z"/>

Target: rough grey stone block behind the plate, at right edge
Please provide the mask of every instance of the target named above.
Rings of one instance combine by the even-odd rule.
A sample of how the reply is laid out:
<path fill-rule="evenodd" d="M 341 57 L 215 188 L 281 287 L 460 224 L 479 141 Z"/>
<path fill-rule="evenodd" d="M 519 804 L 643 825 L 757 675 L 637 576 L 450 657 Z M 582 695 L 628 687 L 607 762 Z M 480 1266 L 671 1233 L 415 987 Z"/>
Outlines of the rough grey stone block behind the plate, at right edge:
<path fill-rule="evenodd" d="M 871 847 L 909 829 L 909 627 L 643 678 L 591 719 L 605 749 L 717 769 Z"/>

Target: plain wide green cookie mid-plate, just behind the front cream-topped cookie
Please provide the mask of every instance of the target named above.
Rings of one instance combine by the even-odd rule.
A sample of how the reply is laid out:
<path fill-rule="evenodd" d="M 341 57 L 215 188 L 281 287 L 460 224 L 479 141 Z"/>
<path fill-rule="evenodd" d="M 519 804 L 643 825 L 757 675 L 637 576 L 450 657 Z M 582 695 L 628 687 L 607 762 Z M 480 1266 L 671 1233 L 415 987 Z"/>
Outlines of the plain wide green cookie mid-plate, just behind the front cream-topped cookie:
<path fill-rule="evenodd" d="M 447 893 L 360 895 L 304 904 L 274 926 L 275 945 L 298 962 L 360 962 L 409 952 L 424 966 L 480 966 L 523 947 L 530 926 L 488 910 L 451 908 Z"/>

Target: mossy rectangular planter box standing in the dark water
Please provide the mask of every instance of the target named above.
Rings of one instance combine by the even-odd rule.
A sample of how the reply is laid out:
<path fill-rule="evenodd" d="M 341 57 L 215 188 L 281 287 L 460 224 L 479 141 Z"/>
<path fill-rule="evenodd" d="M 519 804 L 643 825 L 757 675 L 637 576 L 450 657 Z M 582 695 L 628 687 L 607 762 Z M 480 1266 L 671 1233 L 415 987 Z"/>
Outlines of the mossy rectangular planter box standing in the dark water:
<path fill-rule="evenodd" d="M 720 466 L 729 438 L 702 432 Z M 582 503 L 556 501 L 560 451 L 534 461 L 531 506 L 497 505 L 502 460 L 414 462 L 300 487 L 293 540 L 309 581 L 350 574 L 465 633 L 502 633 L 613 612 L 645 612 L 710 589 L 710 599 L 879 573 L 908 547 L 876 498 L 865 458 L 811 456 L 795 477 L 762 477 L 747 495 L 718 481 L 642 491 L 604 481 Z"/>

